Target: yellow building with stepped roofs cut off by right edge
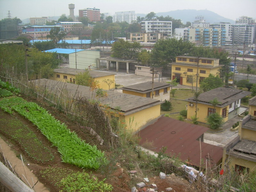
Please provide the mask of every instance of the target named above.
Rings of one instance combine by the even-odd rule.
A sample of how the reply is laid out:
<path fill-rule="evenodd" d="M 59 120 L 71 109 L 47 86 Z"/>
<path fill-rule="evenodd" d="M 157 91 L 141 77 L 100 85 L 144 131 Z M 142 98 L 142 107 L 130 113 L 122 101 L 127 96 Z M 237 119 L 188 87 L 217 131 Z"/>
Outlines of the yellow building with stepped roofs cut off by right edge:
<path fill-rule="evenodd" d="M 223 151 L 222 166 L 230 169 L 256 171 L 256 96 L 249 100 L 249 114 L 239 122 L 238 136 Z"/>

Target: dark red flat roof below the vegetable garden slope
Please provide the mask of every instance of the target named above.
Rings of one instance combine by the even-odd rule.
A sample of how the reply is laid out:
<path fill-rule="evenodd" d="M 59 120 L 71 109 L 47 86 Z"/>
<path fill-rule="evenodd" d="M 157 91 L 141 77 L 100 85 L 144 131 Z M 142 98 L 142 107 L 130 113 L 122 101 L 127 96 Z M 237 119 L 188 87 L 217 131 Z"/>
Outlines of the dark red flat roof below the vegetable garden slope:
<path fill-rule="evenodd" d="M 179 155 L 183 162 L 192 165 L 200 165 L 200 141 L 198 139 L 208 128 L 199 125 L 185 123 L 170 117 L 160 117 L 154 124 L 141 130 L 140 143 L 154 142 L 155 149 L 159 152 L 167 147 L 166 153 Z M 210 159 L 211 164 L 219 164 L 223 155 L 223 148 L 201 142 L 201 158 Z M 209 156 L 208 156 L 209 155 Z"/>

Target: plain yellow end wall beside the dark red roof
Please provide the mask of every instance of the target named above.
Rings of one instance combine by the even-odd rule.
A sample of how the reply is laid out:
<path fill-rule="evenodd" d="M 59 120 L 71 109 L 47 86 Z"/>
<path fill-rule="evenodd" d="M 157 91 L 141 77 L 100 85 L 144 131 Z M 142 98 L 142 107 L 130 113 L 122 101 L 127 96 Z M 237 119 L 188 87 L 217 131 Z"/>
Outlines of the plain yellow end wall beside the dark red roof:
<path fill-rule="evenodd" d="M 150 108 L 143 109 L 131 115 L 122 115 L 119 116 L 119 120 L 124 120 L 127 124 L 127 127 L 131 129 L 133 132 L 138 131 L 143 125 L 148 123 L 149 121 L 155 119 L 160 116 L 160 104 L 152 106 Z M 131 120 L 134 117 L 134 121 L 129 126 L 130 118 Z"/>

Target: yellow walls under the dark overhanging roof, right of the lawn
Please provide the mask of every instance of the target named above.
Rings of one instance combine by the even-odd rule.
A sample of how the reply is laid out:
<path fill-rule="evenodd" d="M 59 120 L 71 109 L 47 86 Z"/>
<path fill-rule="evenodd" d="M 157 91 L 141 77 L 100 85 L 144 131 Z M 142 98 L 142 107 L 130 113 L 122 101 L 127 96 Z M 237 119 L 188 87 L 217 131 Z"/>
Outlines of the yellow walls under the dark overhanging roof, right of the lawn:
<path fill-rule="evenodd" d="M 189 104 L 189 102 L 188 102 Z M 206 117 L 208 115 L 208 108 L 214 108 L 212 105 L 206 105 L 206 104 L 201 104 L 198 103 L 197 104 L 197 108 L 199 109 L 197 111 L 197 115 L 196 115 L 196 103 L 193 103 L 193 107 L 188 106 L 188 114 L 187 114 L 187 118 L 191 120 L 192 116 L 197 116 L 199 122 L 203 122 L 203 123 L 207 123 L 206 121 Z M 224 107 L 225 108 L 225 107 Z M 222 109 L 220 107 L 216 107 L 216 113 L 220 114 L 222 116 Z M 227 106 L 227 110 L 229 109 L 229 106 Z M 228 117 L 224 118 L 224 122 L 228 121 Z"/>

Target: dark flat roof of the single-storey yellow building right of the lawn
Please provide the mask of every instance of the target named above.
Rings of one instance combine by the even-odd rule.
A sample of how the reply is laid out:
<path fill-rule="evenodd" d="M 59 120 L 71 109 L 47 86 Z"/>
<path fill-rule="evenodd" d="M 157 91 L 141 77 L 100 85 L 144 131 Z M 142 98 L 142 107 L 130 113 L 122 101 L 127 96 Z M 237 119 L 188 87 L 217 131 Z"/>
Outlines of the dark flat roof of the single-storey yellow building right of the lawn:
<path fill-rule="evenodd" d="M 230 103 L 235 102 L 236 100 L 242 99 L 243 97 L 249 95 L 250 93 L 251 92 L 238 90 L 238 89 L 219 87 L 219 88 L 201 93 L 198 97 L 198 103 L 212 105 L 210 104 L 210 101 L 212 101 L 214 98 L 217 98 L 217 100 L 221 104 L 216 106 L 222 108 L 229 105 Z M 185 101 L 196 102 L 195 97 L 190 97 Z"/>

